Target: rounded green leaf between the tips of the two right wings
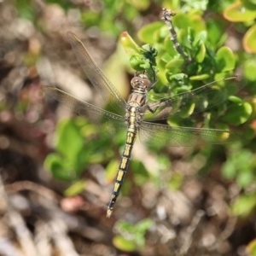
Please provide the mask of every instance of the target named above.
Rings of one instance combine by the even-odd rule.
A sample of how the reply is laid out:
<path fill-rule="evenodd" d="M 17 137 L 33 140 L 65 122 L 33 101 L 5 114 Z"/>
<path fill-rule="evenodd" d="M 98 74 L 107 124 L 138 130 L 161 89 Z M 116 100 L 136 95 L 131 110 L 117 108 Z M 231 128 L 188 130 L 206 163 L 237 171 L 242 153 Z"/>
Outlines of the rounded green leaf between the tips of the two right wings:
<path fill-rule="evenodd" d="M 230 125 L 241 125 L 249 119 L 253 108 L 251 104 L 244 102 L 243 104 L 233 104 L 227 113 L 225 113 L 222 120 L 227 122 Z"/>

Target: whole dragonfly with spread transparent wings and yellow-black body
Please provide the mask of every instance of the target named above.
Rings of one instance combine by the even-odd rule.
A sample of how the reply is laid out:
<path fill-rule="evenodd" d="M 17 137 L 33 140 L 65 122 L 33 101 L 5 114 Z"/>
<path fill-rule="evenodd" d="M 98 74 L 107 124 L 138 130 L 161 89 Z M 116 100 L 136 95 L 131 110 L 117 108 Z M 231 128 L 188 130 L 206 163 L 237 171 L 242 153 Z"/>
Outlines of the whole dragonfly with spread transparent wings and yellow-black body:
<path fill-rule="evenodd" d="M 232 76 L 220 79 L 195 90 L 166 96 L 160 100 L 148 101 L 148 91 L 154 88 L 155 83 L 152 83 L 145 73 L 136 73 L 131 79 L 131 95 L 125 102 L 119 91 L 93 61 L 82 41 L 73 32 L 67 32 L 67 39 L 87 78 L 90 79 L 103 99 L 108 102 L 113 112 L 81 101 L 52 86 L 44 85 L 42 89 L 48 95 L 55 97 L 57 101 L 72 108 L 75 113 L 87 117 L 95 124 L 102 124 L 102 130 L 108 131 L 109 134 L 114 135 L 116 131 L 126 131 L 125 147 L 108 204 L 108 218 L 113 212 L 113 206 L 124 183 L 131 160 L 131 150 L 137 136 L 145 144 L 162 145 L 167 143 L 169 146 L 177 147 L 230 143 L 241 138 L 233 131 L 172 127 L 154 121 L 178 115 L 180 109 L 190 108 L 191 104 L 194 106 L 191 114 L 207 111 L 241 90 L 246 84 L 246 80 L 242 77 Z"/>

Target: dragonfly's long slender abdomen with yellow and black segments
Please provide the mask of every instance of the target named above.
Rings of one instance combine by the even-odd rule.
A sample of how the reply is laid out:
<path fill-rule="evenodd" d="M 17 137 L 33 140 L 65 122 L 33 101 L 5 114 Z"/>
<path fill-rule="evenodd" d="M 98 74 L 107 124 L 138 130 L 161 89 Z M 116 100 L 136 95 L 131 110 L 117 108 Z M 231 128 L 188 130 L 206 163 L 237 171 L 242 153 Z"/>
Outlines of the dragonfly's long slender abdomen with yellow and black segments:
<path fill-rule="evenodd" d="M 111 216 L 111 213 L 113 212 L 113 205 L 119 196 L 119 192 L 121 189 L 122 184 L 125 180 L 125 175 L 129 166 L 129 162 L 131 159 L 131 149 L 133 147 L 133 144 L 136 140 L 137 131 L 134 128 L 129 128 L 127 131 L 126 136 L 126 143 L 125 143 L 125 149 L 122 154 L 122 159 L 119 164 L 119 171 L 117 173 L 117 176 L 115 178 L 115 182 L 113 184 L 113 192 L 111 199 L 108 204 L 108 211 L 107 211 L 107 217 L 109 218 Z"/>

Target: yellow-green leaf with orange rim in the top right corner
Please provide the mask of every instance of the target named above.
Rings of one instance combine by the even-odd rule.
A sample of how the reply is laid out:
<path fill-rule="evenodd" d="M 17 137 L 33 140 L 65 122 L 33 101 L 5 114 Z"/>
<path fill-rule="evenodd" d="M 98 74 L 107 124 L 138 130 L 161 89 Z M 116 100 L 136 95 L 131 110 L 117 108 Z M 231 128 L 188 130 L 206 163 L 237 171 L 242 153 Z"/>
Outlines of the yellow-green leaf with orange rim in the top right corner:
<path fill-rule="evenodd" d="M 237 1 L 224 10 L 224 18 L 232 22 L 249 21 L 256 18 L 256 10 L 247 9 Z"/>

